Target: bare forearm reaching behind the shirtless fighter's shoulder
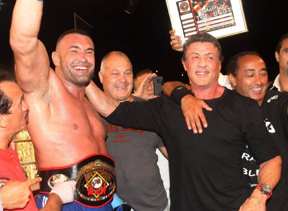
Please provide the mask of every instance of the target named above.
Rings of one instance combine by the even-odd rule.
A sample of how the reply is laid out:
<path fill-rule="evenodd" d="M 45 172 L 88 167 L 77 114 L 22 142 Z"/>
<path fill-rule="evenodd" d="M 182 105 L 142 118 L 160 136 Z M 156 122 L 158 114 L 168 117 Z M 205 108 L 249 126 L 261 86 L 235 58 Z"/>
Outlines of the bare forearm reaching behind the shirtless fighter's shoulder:
<path fill-rule="evenodd" d="M 85 94 L 93 107 L 103 117 L 108 117 L 119 105 L 117 100 L 100 90 L 92 80 L 86 86 Z"/>

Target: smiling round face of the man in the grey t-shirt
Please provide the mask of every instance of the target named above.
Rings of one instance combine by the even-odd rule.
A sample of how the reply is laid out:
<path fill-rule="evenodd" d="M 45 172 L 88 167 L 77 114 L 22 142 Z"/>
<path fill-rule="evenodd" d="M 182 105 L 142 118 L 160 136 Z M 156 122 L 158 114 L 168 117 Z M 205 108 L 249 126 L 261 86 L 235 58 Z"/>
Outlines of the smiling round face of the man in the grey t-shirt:
<path fill-rule="evenodd" d="M 105 93 L 118 101 L 127 100 L 133 89 L 133 72 L 129 59 L 112 54 L 105 62 L 105 72 L 99 72 Z"/>

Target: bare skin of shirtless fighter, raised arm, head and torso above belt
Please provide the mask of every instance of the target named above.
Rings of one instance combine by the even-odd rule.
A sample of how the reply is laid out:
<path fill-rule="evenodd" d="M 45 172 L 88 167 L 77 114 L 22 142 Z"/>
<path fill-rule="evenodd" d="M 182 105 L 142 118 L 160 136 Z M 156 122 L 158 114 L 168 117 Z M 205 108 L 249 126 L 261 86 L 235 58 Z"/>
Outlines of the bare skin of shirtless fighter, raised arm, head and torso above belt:
<path fill-rule="evenodd" d="M 18 84 L 31 105 L 27 129 L 38 169 L 70 165 L 94 153 L 108 154 L 102 120 L 83 97 L 85 81 L 94 70 L 93 42 L 84 35 L 66 35 L 52 55 L 54 72 L 37 38 L 42 9 L 43 2 L 17 0 L 10 29 Z"/>

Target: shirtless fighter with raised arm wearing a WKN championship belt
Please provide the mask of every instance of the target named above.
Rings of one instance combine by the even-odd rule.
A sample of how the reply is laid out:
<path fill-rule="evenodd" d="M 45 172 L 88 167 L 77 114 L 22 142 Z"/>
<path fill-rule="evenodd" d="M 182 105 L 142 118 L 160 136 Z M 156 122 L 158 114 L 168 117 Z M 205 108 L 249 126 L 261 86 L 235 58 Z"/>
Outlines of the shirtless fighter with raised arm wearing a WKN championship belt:
<path fill-rule="evenodd" d="M 77 182 L 76 202 L 63 209 L 105 205 L 112 210 L 109 201 L 116 188 L 114 160 L 107 156 L 102 120 L 83 97 L 85 84 L 94 71 L 94 44 L 83 31 L 63 33 L 52 53 L 54 72 L 37 38 L 42 10 L 43 1 L 17 0 L 10 29 L 16 77 L 25 101 L 31 105 L 27 129 L 43 176 L 40 193 L 49 193 L 54 180 L 63 173 L 67 180 Z M 45 197 L 39 196 L 38 207 L 44 204 Z"/>

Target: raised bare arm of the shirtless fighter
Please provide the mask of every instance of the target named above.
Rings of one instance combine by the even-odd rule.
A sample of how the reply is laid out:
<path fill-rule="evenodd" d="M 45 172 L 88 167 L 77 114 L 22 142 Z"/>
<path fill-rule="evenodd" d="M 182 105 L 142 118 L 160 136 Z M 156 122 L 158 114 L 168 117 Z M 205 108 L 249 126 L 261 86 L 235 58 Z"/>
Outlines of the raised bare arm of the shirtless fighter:
<path fill-rule="evenodd" d="M 47 51 L 38 40 L 43 1 L 17 0 L 10 28 L 10 45 L 15 58 L 19 86 L 25 93 L 48 85 L 50 63 Z"/>

